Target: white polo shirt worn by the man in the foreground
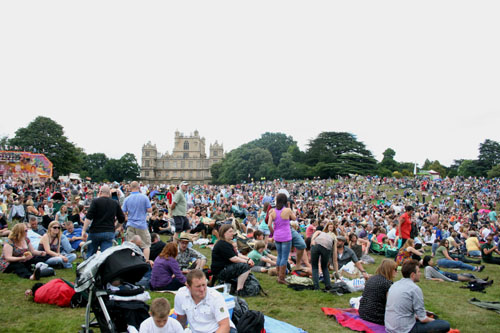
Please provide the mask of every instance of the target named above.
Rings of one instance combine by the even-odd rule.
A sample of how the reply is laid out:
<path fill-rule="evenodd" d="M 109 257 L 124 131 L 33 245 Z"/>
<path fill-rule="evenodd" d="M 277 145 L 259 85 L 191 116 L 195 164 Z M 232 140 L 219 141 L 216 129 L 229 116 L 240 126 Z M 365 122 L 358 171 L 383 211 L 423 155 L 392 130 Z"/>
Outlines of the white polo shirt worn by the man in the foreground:
<path fill-rule="evenodd" d="M 229 318 L 224 297 L 211 288 L 207 289 L 205 299 L 195 304 L 189 289 L 182 287 L 175 295 L 174 304 L 175 313 L 187 316 L 192 333 L 215 332 L 219 328 L 219 321 Z M 235 328 L 231 318 L 229 318 L 229 325 Z"/>

